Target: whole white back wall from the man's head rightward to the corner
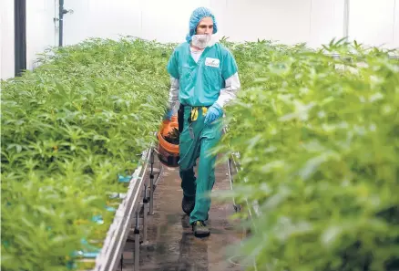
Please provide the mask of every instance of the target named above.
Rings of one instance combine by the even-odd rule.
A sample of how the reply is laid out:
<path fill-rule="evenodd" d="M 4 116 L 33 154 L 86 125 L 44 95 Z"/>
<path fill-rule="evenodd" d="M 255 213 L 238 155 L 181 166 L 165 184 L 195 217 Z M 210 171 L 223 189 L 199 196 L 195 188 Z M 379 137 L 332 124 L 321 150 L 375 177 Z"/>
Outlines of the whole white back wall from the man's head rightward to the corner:
<path fill-rule="evenodd" d="M 343 0 L 230 0 L 219 9 L 233 41 L 260 38 L 320 47 L 343 36 Z"/>

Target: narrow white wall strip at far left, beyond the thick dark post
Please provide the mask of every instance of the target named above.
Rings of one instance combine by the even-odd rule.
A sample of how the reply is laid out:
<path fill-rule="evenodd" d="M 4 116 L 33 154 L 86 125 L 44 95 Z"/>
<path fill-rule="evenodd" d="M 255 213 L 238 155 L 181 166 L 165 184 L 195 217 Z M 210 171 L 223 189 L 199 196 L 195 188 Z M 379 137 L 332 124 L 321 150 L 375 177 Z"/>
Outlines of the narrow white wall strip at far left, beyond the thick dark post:
<path fill-rule="evenodd" d="M 0 5 L 0 78 L 14 77 L 14 0 Z"/>

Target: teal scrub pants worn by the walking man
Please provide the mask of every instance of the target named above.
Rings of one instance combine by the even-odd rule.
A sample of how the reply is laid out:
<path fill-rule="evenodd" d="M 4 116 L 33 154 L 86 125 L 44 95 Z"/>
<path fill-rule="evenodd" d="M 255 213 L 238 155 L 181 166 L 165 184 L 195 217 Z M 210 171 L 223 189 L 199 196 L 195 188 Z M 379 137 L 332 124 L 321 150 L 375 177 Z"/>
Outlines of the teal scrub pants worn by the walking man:
<path fill-rule="evenodd" d="M 210 155 L 210 149 L 220 141 L 222 125 L 218 120 L 205 125 L 202 109 L 199 109 L 198 119 L 189 124 L 190 114 L 191 108 L 184 107 L 184 125 L 179 137 L 179 174 L 183 194 L 191 198 L 195 196 L 195 208 L 189 215 L 189 223 L 192 224 L 208 219 L 216 162 L 216 156 Z M 200 162 L 196 178 L 194 166 L 198 158 Z"/>

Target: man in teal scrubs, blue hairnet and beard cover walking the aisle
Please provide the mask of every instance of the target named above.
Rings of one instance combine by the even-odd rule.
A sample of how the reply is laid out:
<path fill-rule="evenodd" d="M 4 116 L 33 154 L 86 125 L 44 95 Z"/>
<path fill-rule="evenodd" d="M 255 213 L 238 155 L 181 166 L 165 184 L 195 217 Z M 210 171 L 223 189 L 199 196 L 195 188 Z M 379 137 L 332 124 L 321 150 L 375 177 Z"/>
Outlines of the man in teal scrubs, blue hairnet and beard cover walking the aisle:
<path fill-rule="evenodd" d="M 230 51 L 213 40 L 218 25 L 205 7 L 193 11 L 186 41 L 175 48 L 168 63 L 171 78 L 166 119 L 179 106 L 179 174 L 182 209 L 189 214 L 194 235 L 210 235 L 205 224 L 210 191 L 215 182 L 215 156 L 210 149 L 220 141 L 223 108 L 240 89 L 236 61 Z M 200 157 L 198 178 L 194 175 Z"/>

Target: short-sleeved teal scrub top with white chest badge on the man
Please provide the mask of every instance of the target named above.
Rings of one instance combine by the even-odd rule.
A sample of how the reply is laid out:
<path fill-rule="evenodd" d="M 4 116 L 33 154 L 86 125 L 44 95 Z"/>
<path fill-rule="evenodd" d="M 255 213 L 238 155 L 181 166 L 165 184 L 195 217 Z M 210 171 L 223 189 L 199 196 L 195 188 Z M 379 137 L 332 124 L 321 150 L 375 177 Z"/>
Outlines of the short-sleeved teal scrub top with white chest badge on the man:
<path fill-rule="evenodd" d="M 225 80 L 237 72 L 230 50 L 216 43 L 206 47 L 196 63 L 189 43 L 180 44 L 168 63 L 171 77 L 179 79 L 179 102 L 192 107 L 211 106 L 225 88 Z"/>

